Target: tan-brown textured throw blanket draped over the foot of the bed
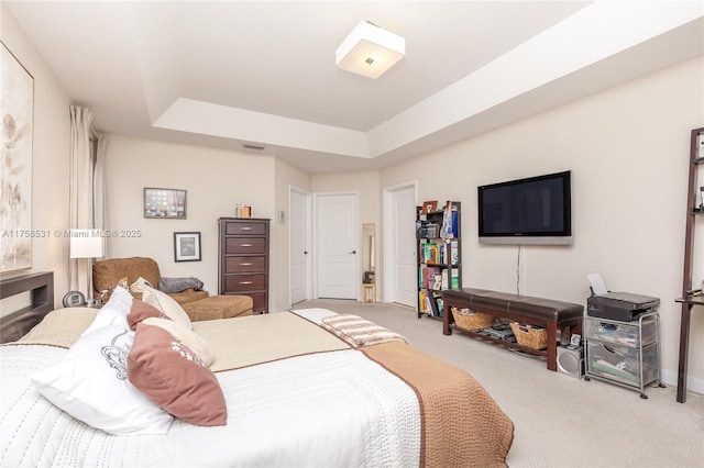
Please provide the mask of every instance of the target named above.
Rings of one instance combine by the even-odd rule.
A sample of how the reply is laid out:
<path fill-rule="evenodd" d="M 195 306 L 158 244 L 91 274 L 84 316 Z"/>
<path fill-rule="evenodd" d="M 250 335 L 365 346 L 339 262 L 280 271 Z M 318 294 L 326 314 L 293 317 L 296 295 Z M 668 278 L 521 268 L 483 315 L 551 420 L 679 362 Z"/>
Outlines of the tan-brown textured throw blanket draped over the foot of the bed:
<path fill-rule="evenodd" d="M 360 348 L 418 395 L 421 467 L 505 467 L 514 424 L 472 376 L 400 342 Z"/>

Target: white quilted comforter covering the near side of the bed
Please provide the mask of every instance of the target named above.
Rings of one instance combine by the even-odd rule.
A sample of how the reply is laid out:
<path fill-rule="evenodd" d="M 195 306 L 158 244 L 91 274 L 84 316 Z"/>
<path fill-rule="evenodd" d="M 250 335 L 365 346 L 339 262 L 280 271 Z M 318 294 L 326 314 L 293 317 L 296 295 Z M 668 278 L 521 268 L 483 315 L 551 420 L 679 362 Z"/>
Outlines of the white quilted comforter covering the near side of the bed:
<path fill-rule="evenodd" d="M 228 424 L 176 420 L 165 436 L 114 436 L 58 410 L 26 375 L 66 353 L 0 346 L 0 466 L 341 467 L 419 464 L 415 392 L 345 349 L 218 372 Z"/>

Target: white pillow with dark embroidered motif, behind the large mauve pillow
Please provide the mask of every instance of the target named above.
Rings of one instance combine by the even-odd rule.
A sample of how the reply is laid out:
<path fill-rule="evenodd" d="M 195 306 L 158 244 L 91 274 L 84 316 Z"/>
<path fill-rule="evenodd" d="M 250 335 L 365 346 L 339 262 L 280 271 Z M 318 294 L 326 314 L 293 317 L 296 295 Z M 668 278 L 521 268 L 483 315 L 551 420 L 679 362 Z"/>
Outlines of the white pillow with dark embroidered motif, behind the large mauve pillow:
<path fill-rule="evenodd" d="M 91 324 L 58 363 L 32 372 L 30 380 L 52 403 L 92 427 L 116 435 L 166 434 L 174 417 L 128 379 L 134 332 L 119 314 L 103 307 L 96 326 Z"/>

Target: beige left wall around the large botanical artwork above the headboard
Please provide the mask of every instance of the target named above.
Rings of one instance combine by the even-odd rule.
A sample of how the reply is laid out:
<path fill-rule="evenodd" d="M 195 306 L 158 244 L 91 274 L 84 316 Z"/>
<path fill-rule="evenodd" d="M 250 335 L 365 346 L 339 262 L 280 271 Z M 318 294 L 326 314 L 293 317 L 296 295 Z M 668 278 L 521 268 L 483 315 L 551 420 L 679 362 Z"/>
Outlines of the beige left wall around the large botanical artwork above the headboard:
<path fill-rule="evenodd" d="M 1 2 L 0 38 L 34 77 L 32 229 L 50 233 L 48 237 L 32 242 L 30 270 L 4 274 L 2 278 L 54 271 L 54 303 L 61 307 L 62 298 L 69 289 L 68 238 L 55 232 L 68 229 L 70 100 Z"/>

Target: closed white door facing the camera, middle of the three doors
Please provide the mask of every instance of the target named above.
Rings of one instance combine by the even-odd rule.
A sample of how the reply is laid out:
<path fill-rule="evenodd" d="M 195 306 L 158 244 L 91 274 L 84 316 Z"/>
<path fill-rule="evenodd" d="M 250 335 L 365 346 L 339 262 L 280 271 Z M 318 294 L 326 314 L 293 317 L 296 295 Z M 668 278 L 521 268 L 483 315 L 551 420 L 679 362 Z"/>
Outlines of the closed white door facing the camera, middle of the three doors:
<path fill-rule="evenodd" d="M 318 297 L 356 299 L 359 246 L 356 194 L 316 194 Z"/>

